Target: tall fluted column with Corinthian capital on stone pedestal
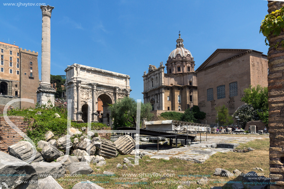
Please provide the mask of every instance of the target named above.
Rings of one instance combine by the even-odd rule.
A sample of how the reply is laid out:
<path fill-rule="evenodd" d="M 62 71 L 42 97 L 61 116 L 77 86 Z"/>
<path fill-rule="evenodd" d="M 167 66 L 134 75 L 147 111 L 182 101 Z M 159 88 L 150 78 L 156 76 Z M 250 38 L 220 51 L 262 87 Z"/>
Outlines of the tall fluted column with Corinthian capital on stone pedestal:
<path fill-rule="evenodd" d="M 53 6 L 41 6 L 42 9 L 42 83 L 37 88 L 37 102 L 54 105 L 55 89 L 50 86 L 50 17 Z"/>

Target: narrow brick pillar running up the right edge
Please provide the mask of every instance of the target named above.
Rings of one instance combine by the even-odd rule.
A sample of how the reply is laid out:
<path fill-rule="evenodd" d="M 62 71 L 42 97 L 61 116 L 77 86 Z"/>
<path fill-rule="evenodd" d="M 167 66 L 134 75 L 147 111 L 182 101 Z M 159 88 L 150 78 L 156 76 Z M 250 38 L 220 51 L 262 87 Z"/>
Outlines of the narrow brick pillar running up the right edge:
<path fill-rule="evenodd" d="M 284 2 L 268 1 L 268 12 L 279 10 L 284 6 Z M 269 103 L 269 165 L 270 178 L 276 184 L 271 184 L 270 189 L 284 188 L 284 48 L 274 48 L 279 41 L 284 40 L 284 32 L 279 36 L 269 36 L 269 45 L 272 47 L 268 51 L 268 103 Z"/>

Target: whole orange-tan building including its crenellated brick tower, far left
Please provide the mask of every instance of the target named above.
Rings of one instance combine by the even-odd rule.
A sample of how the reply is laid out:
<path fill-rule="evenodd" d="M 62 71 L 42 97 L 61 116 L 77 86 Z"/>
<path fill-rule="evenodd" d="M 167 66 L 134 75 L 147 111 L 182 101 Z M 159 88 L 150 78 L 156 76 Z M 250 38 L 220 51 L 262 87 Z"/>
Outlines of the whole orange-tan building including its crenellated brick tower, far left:
<path fill-rule="evenodd" d="M 34 104 L 22 101 L 11 106 L 35 107 L 39 86 L 38 53 L 3 42 L 0 42 L 0 49 L 0 105 L 3 107 L 13 99 L 28 98 L 33 99 Z"/>

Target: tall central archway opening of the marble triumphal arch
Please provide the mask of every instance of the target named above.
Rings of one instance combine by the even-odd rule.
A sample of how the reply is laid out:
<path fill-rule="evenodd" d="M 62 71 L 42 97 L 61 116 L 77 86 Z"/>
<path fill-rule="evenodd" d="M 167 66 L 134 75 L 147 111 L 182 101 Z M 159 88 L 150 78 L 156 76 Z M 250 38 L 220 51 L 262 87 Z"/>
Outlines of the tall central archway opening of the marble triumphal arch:
<path fill-rule="evenodd" d="M 111 125 L 112 121 L 110 120 L 110 111 L 108 110 L 108 106 L 113 102 L 111 97 L 107 94 L 101 94 L 98 96 L 98 99 L 102 101 L 102 105 L 97 104 L 97 110 L 103 109 L 103 112 L 100 112 L 101 115 L 98 115 L 98 122 L 102 122 L 106 125 Z M 99 107 L 101 106 L 101 107 Z"/>

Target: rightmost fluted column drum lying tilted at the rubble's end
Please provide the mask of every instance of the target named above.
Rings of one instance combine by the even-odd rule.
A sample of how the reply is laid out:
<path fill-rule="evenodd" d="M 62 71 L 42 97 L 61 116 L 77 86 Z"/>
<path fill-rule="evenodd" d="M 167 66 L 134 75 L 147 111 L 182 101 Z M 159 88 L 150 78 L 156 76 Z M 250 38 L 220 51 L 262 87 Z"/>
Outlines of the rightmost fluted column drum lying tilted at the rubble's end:
<path fill-rule="evenodd" d="M 129 135 L 120 136 L 114 144 L 122 155 L 129 154 L 135 148 L 135 141 Z"/>

